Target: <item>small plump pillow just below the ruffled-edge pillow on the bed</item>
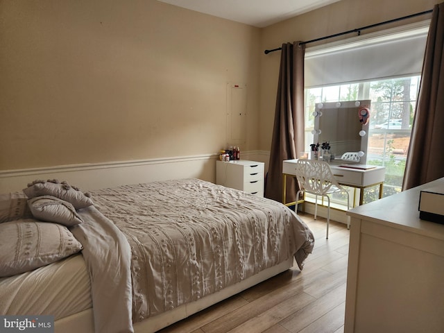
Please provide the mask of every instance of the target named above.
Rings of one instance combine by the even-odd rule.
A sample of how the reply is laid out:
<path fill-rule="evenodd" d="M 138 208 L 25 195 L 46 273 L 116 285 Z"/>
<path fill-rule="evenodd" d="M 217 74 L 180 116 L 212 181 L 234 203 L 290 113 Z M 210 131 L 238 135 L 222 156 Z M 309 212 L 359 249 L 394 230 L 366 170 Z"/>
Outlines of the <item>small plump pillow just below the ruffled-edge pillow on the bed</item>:
<path fill-rule="evenodd" d="M 28 200 L 35 219 L 56 222 L 67 227 L 83 222 L 73 205 L 55 196 L 37 196 Z"/>

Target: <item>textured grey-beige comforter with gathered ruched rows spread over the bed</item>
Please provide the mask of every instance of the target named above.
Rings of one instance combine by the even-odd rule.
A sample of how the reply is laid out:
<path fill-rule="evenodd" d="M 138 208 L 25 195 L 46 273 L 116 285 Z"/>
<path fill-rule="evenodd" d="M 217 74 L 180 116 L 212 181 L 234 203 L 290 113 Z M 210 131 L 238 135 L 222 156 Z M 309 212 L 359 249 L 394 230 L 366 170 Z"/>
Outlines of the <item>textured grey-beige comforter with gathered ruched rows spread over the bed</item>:
<path fill-rule="evenodd" d="M 92 198 L 99 211 L 128 241 L 134 322 L 198 300 L 292 256 L 302 269 L 314 246 L 313 234 L 288 207 L 202 180 L 171 180 L 103 189 L 92 192 Z M 94 237 L 104 228 L 87 224 L 83 225 L 85 227 L 96 233 Z M 83 236 L 75 234 L 83 244 Z M 84 237 L 87 237 L 86 229 Z M 90 245 L 97 243 L 94 237 L 89 240 Z M 121 246 L 119 241 L 100 237 L 99 243 Z M 87 248 L 86 244 L 83 246 Z M 103 251 L 93 252 L 100 255 Z M 108 255 L 108 259 L 91 259 L 106 263 L 102 265 L 105 275 L 94 273 L 92 280 L 96 327 L 114 325 L 110 322 L 112 316 L 106 316 L 111 311 L 110 298 L 103 300 L 99 296 L 106 289 L 121 285 L 113 276 L 122 278 L 120 274 L 123 274 L 123 289 L 128 292 L 128 275 L 119 273 L 120 268 L 125 269 L 128 257 L 119 255 L 116 264 L 109 261 L 110 253 L 117 253 L 117 249 L 110 248 L 102 253 Z M 85 260 L 88 262 L 87 256 Z M 98 272 L 97 268 L 91 269 Z M 101 289 L 96 298 L 94 289 Z M 126 300 L 128 297 L 123 298 Z M 119 309 L 112 312 L 116 316 L 124 311 L 124 306 L 117 306 Z M 119 322 L 122 317 L 128 318 L 119 315 Z M 98 332 L 131 330 L 128 327 L 127 331 L 122 328 L 121 331 Z"/>

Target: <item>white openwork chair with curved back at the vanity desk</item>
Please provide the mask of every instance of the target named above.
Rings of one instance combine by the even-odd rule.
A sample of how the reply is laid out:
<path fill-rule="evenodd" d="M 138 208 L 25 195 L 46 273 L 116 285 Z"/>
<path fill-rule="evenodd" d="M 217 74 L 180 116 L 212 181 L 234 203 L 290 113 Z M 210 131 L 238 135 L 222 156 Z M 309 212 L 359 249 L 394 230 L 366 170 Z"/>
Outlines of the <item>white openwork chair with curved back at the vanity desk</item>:
<path fill-rule="evenodd" d="M 299 191 L 296 198 L 299 198 L 300 193 L 307 192 L 314 194 L 314 219 L 316 220 L 318 212 L 318 196 L 325 196 L 327 198 L 327 236 L 330 227 L 330 194 L 342 192 L 347 194 L 347 210 L 350 210 L 350 195 L 348 190 L 339 185 L 339 182 L 333 176 L 330 165 L 327 162 L 318 160 L 298 160 L 295 165 L 295 175 L 299 183 Z M 298 210 L 296 210 L 297 212 Z M 350 216 L 347 216 L 347 228 L 350 228 Z"/>

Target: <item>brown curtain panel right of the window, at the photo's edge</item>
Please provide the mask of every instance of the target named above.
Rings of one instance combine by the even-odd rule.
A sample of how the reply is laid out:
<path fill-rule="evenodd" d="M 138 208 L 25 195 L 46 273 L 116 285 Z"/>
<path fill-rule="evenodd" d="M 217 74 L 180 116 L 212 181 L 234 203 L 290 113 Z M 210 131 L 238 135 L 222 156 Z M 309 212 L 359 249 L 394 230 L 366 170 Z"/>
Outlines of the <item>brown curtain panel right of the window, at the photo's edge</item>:
<path fill-rule="evenodd" d="M 443 47 L 444 3 L 440 3 L 434 6 L 425 46 L 403 190 L 444 177 Z"/>

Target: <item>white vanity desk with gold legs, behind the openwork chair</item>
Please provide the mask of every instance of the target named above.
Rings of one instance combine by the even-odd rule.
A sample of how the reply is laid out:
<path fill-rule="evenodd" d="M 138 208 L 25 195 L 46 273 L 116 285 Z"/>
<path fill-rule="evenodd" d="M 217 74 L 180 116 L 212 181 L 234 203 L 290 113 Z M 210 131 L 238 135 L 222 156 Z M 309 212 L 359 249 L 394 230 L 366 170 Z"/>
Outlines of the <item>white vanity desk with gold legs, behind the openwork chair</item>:
<path fill-rule="evenodd" d="M 294 205 L 295 203 L 287 203 L 287 176 L 296 176 L 296 160 L 284 160 L 282 162 L 282 203 L 284 205 Z M 379 199 L 382 198 L 382 186 L 385 179 L 385 167 L 372 167 L 372 169 L 352 169 L 340 167 L 341 163 L 330 163 L 333 175 L 341 185 L 355 187 L 359 189 L 359 205 L 362 205 L 364 189 L 379 185 Z M 352 166 L 352 164 L 350 164 Z M 357 167 L 359 164 L 357 164 Z"/>

